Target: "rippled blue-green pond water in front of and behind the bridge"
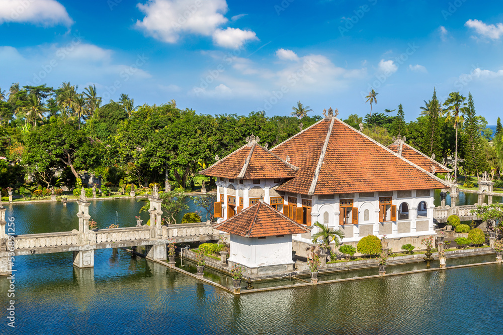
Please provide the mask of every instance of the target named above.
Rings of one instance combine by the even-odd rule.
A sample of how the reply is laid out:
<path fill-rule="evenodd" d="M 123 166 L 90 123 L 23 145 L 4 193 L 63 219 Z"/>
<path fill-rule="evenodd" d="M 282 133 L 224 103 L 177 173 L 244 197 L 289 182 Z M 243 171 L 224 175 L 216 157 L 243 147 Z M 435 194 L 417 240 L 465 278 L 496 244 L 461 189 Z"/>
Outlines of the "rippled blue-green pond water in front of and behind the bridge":
<path fill-rule="evenodd" d="M 134 226 L 143 203 L 92 202 L 99 225 Z M 16 233 L 77 228 L 76 204 L 7 205 Z M 147 219 L 145 214 L 143 219 Z M 448 260 L 448 265 L 494 256 Z M 437 266 L 434 264 L 433 266 Z M 425 268 L 424 263 L 389 272 Z M 93 269 L 76 269 L 71 253 L 18 256 L 15 297 L 0 278 L 1 334 L 480 334 L 501 333 L 502 264 L 357 280 L 234 296 L 122 250 L 98 250 Z M 377 269 L 320 276 L 376 274 Z M 228 278 L 208 271 L 210 280 Z M 286 284 L 292 284 L 286 280 Z M 267 283 L 254 284 L 257 287 Z M 228 285 L 226 285 L 228 286 Z M 15 299 L 16 328 L 7 326 Z M 499 330 L 498 330 L 499 329 Z"/>

